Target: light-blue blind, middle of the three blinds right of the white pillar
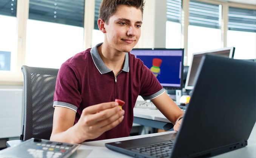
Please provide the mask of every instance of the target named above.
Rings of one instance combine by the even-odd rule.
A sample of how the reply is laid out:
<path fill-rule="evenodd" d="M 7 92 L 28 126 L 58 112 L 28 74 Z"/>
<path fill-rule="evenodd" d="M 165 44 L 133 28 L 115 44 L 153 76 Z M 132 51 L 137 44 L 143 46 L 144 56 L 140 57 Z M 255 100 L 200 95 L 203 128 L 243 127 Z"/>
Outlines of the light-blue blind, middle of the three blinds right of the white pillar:
<path fill-rule="evenodd" d="M 189 2 L 189 23 L 194 26 L 220 28 L 221 5 L 198 2 Z"/>

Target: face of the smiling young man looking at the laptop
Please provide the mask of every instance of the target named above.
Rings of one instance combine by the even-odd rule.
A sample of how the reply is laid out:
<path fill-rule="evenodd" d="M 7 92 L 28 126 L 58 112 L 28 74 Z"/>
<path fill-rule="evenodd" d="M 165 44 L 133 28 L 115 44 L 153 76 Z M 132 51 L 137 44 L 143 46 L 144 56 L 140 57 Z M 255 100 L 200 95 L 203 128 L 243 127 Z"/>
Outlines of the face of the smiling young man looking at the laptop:
<path fill-rule="evenodd" d="M 114 15 L 105 23 L 104 43 L 110 49 L 130 52 L 140 38 L 142 12 L 135 7 L 119 5 Z"/>

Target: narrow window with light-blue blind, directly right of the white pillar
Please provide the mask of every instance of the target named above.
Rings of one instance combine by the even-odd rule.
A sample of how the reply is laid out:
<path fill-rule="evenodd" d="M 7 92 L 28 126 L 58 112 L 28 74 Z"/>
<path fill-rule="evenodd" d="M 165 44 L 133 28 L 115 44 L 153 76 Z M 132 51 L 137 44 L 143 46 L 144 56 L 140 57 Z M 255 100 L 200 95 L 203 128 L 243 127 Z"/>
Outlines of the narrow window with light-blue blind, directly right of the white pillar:
<path fill-rule="evenodd" d="M 166 48 L 181 46 L 181 0 L 167 0 Z"/>

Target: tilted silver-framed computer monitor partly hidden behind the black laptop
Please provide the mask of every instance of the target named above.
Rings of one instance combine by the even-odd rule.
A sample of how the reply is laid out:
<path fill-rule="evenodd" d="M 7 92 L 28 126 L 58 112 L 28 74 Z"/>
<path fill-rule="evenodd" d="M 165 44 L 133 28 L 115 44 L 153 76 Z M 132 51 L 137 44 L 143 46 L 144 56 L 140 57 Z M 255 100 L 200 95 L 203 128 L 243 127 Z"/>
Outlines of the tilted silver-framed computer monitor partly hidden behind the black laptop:
<path fill-rule="evenodd" d="M 187 79 L 185 83 L 185 89 L 186 90 L 193 90 L 194 88 L 194 79 L 196 76 L 197 69 L 199 67 L 200 61 L 202 59 L 202 56 L 204 56 L 206 53 L 216 54 L 216 55 L 223 55 L 227 56 L 228 58 L 234 57 L 234 50 L 235 47 L 225 47 L 222 49 L 215 49 L 215 50 L 208 50 L 205 52 L 199 52 L 199 53 L 193 53 L 191 58 L 191 64 L 188 68 L 188 74 Z"/>

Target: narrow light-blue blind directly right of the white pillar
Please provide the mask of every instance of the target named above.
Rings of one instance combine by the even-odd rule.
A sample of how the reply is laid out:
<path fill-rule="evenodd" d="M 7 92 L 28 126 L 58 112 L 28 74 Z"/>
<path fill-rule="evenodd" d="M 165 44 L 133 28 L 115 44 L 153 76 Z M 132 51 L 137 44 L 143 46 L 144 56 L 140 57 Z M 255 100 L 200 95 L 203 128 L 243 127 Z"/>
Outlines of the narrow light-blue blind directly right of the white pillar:
<path fill-rule="evenodd" d="M 177 23 L 181 22 L 182 3 L 181 0 L 167 0 L 167 20 Z"/>

